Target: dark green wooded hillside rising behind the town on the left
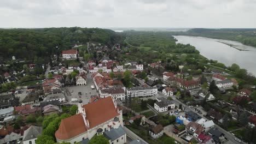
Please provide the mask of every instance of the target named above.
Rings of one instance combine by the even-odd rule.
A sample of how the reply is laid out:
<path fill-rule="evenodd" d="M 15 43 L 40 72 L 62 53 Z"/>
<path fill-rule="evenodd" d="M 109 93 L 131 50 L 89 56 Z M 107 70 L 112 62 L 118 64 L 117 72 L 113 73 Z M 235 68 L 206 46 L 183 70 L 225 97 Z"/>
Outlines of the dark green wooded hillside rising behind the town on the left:
<path fill-rule="evenodd" d="M 47 58 L 74 44 L 97 41 L 112 45 L 120 39 L 114 31 L 100 28 L 0 29 L 0 58 Z"/>

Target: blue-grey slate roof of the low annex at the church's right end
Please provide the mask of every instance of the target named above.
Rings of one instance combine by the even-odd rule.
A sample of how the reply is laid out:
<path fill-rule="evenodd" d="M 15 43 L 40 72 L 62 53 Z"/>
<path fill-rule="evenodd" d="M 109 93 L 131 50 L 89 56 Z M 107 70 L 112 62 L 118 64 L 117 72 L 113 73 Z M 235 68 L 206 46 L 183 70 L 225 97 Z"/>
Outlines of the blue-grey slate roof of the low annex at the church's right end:
<path fill-rule="evenodd" d="M 118 129 L 110 129 L 109 131 L 105 131 L 103 135 L 110 141 L 118 139 L 118 137 L 126 134 L 123 127 L 119 126 Z"/>

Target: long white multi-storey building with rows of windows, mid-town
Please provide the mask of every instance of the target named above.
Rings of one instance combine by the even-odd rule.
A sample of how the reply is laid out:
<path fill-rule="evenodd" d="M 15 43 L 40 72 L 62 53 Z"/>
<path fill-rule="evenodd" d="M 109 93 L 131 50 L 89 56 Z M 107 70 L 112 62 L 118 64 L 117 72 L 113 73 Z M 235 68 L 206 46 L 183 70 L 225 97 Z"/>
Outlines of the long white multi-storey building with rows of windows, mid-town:
<path fill-rule="evenodd" d="M 150 97 L 158 94 L 157 87 L 132 87 L 126 89 L 127 96 L 129 97 Z"/>

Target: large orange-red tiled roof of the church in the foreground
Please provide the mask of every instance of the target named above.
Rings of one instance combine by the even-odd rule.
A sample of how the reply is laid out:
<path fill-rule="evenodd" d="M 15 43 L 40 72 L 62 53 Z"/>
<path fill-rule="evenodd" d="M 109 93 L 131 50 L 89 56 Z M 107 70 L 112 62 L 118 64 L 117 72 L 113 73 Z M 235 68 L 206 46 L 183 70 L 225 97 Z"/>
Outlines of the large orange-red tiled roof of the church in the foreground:
<path fill-rule="evenodd" d="M 72 137 L 84 133 L 88 129 L 92 129 L 97 125 L 120 115 L 117 112 L 111 97 L 99 99 L 93 103 L 84 105 L 83 107 L 90 127 L 86 127 L 81 114 L 62 119 L 59 129 L 55 133 L 56 139 L 71 139 Z"/>

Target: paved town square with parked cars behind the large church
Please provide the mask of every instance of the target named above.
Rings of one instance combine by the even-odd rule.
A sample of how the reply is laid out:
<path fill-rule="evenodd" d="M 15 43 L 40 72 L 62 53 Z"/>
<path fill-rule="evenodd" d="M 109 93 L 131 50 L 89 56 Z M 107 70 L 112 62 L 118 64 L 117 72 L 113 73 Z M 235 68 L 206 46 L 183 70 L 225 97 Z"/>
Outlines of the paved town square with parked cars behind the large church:
<path fill-rule="evenodd" d="M 86 86 L 71 86 L 65 87 L 66 99 L 70 104 L 75 104 L 71 102 L 71 99 L 83 100 L 83 104 L 88 104 L 92 95 L 98 95 L 96 89 L 91 89 L 91 85 L 94 85 L 91 79 L 91 75 L 87 75 L 87 85 Z"/>

